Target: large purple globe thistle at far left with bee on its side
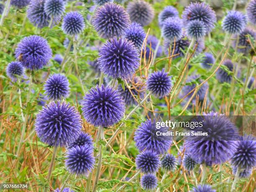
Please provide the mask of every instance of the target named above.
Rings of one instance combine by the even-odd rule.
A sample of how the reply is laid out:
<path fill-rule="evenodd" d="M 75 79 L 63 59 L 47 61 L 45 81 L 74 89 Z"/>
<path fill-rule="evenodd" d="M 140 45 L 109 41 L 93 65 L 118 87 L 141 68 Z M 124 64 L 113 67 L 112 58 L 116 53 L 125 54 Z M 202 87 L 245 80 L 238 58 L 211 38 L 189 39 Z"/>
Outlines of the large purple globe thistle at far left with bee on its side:
<path fill-rule="evenodd" d="M 23 67 L 36 70 L 44 67 L 52 57 L 48 42 L 40 36 L 23 38 L 15 50 L 15 58 Z"/>

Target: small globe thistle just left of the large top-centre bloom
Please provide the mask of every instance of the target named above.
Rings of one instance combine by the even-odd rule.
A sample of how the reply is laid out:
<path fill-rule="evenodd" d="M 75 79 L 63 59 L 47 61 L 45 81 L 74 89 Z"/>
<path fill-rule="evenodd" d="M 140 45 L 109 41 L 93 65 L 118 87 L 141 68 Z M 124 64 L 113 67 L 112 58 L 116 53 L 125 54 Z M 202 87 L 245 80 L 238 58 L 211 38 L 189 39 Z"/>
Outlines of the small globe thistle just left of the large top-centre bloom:
<path fill-rule="evenodd" d="M 63 18 L 62 30 L 67 35 L 78 35 L 79 33 L 82 33 L 84 27 L 84 18 L 76 11 L 67 13 Z"/>

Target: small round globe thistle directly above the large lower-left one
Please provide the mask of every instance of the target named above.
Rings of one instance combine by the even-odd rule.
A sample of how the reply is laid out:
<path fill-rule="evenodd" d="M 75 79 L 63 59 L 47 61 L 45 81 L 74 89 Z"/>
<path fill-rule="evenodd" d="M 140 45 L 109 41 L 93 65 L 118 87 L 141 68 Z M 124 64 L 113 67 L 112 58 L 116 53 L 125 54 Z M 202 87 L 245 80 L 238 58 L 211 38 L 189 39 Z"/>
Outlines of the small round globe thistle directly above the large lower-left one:
<path fill-rule="evenodd" d="M 53 74 L 46 80 L 44 90 L 49 99 L 61 100 L 70 93 L 69 81 L 62 74 Z"/>

